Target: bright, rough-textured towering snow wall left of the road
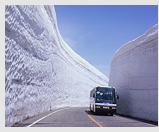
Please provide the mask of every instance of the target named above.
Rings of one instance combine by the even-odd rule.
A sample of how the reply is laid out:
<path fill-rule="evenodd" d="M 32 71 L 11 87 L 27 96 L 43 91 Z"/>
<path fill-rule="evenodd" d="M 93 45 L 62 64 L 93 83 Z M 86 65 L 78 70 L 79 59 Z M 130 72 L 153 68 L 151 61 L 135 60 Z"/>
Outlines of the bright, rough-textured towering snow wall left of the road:
<path fill-rule="evenodd" d="M 62 39 L 54 6 L 5 6 L 5 126 L 65 106 L 89 106 L 108 78 Z"/>

